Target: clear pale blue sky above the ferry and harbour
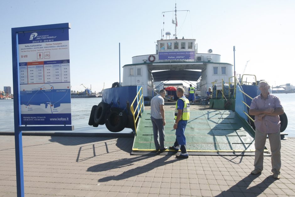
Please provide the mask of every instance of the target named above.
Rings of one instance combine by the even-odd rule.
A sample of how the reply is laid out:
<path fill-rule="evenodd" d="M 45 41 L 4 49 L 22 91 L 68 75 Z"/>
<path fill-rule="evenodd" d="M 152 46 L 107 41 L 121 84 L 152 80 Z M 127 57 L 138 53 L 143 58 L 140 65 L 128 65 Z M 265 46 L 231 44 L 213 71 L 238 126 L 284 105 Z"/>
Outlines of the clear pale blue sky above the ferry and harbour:
<path fill-rule="evenodd" d="M 177 3 L 179 38 L 194 38 L 198 52 L 221 55 L 236 72 L 255 74 L 270 85 L 295 85 L 295 1 L 294 0 L 211 0 L 211 1 L 75 1 L 14 0 L 0 3 L 0 90 L 13 87 L 11 28 L 70 23 L 70 69 L 72 90 L 104 86 L 119 81 L 119 42 L 121 67 L 132 56 L 155 54 L 161 38 L 163 11 Z M 165 14 L 165 31 L 174 33 Z M 121 76 L 122 76 L 121 68 Z M 121 77 L 122 82 L 122 77 Z"/>

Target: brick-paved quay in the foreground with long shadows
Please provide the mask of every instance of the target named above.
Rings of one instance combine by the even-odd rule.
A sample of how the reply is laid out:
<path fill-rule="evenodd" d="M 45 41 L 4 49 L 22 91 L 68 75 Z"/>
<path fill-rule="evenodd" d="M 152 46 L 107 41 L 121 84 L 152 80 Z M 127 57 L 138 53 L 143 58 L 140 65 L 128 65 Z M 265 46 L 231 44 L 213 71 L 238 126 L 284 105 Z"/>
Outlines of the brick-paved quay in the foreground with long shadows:
<path fill-rule="evenodd" d="M 23 136 L 25 196 L 295 196 L 295 138 L 271 157 L 131 155 L 133 138 Z M 266 147 L 269 148 L 268 140 Z M 16 196 L 14 136 L 0 136 L 0 196 Z"/>

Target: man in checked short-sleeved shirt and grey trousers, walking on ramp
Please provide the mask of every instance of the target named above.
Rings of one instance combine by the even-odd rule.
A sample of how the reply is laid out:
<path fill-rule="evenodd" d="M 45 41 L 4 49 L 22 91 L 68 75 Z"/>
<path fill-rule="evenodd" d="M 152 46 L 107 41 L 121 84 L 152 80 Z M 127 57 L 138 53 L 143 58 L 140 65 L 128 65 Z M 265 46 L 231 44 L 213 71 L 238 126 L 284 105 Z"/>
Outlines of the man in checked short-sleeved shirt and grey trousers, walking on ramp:
<path fill-rule="evenodd" d="M 164 110 L 165 95 L 166 91 L 162 89 L 159 94 L 151 99 L 151 120 L 153 124 L 154 142 L 157 151 L 164 151 L 167 149 L 167 147 L 164 146 L 164 126 L 166 124 Z"/>

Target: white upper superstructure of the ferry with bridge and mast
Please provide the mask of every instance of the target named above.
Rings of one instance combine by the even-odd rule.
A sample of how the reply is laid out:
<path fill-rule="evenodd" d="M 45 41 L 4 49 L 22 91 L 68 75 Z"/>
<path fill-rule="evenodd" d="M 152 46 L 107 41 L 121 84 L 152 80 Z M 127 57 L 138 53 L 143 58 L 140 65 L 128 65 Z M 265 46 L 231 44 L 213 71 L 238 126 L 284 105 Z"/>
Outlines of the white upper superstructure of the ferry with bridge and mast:
<path fill-rule="evenodd" d="M 176 12 L 175 5 L 175 20 Z M 233 65 L 221 62 L 221 55 L 211 49 L 198 53 L 196 39 L 178 39 L 174 24 L 174 37 L 170 39 L 171 33 L 166 32 L 165 39 L 163 35 L 157 40 L 155 54 L 133 56 L 132 64 L 123 66 L 123 86 L 142 86 L 143 96 L 152 97 L 153 90 L 163 88 L 165 81 L 189 81 L 197 82 L 194 85 L 205 96 L 212 82 L 228 82 L 233 76 Z"/>

